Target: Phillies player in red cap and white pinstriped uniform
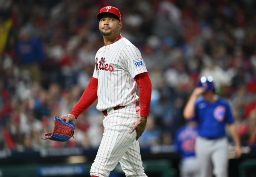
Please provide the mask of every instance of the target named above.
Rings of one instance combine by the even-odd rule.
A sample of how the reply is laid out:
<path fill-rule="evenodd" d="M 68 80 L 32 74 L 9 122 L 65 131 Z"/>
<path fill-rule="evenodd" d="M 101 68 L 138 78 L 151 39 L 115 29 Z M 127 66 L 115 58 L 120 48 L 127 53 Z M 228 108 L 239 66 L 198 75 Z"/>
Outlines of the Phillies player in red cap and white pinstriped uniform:
<path fill-rule="evenodd" d="M 121 36 L 119 9 L 106 6 L 96 17 L 104 46 L 96 53 L 94 74 L 85 92 L 72 112 L 62 119 L 75 120 L 98 99 L 96 108 L 104 114 L 104 134 L 91 176 L 108 177 L 120 162 L 127 177 L 146 177 L 137 140 L 149 115 L 151 80 L 140 51 Z"/>

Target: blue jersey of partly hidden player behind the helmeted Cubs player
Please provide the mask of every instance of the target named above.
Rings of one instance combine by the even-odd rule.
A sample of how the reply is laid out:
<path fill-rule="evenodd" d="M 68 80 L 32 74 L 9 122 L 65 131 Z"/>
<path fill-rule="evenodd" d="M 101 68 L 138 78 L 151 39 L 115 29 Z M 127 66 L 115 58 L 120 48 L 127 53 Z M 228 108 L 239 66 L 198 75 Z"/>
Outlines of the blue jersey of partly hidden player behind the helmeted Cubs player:
<path fill-rule="evenodd" d="M 198 126 L 181 127 L 175 136 L 175 149 L 180 158 L 195 157 L 195 140 L 198 136 Z"/>

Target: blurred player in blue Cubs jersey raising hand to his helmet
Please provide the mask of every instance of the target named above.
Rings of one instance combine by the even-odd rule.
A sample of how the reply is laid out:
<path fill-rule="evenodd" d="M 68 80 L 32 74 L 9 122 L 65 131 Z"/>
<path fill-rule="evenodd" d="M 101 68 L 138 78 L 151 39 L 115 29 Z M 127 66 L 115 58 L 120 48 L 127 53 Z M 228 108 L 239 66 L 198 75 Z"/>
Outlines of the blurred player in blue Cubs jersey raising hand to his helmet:
<path fill-rule="evenodd" d="M 199 97 L 202 95 L 202 97 Z M 190 96 L 184 117 L 196 117 L 199 136 L 196 139 L 196 156 L 199 160 L 200 177 L 228 177 L 228 139 L 225 125 L 229 125 L 235 143 L 237 157 L 241 148 L 234 117 L 228 102 L 215 93 L 213 78 L 201 77 L 199 85 Z M 212 165 L 213 171 L 212 171 Z"/>

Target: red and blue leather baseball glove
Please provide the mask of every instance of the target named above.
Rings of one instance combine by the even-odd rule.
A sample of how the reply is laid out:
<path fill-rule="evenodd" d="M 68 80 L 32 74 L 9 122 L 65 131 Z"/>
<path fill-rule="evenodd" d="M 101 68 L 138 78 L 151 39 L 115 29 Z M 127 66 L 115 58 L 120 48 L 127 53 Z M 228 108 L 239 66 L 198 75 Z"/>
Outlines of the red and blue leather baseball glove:
<path fill-rule="evenodd" d="M 45 133 L 45 139 L 42 140 L 53 140 L 53 141 L 67 141 L 71 137 L 74 138 L 75 125 L 72 121 L 66 123 L 65 121 L 59 119 L 55 116 L 54 118 L 54 127 L 51 133 Z"/>

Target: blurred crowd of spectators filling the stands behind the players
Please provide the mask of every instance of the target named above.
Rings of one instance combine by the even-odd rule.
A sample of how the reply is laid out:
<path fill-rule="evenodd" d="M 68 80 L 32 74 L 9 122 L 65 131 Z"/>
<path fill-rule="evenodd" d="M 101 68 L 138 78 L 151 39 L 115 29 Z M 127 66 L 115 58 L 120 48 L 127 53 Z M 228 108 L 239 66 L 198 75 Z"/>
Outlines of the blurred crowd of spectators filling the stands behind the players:
<path fill-rule="evenodd" d="M 41 140 L 68 114 L 104 45 L 96 14 L 120 9 L 121 34 L 142 53 L 152 80 L 141 147 L 171 145 L 201 76 L 230 102 L 242 145 L 256 146 L 254 0 L 1 0 L 0 149 L 99 146 L 104 116 L 94 103 L 66 143 Z"/>

